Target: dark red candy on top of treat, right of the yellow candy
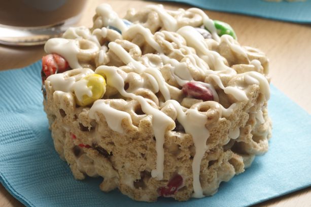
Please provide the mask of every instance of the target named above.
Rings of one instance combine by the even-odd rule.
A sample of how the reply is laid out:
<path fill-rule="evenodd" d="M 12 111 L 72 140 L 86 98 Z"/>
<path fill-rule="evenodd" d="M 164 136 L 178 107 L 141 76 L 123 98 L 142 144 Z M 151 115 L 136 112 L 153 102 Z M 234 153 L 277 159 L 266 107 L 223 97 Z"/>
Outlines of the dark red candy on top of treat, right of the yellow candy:
<path fill-rule="evenodd" d="M 214 100 L 211 90 L 196 81 L 187 82 L 187 84 L 183 86 L 182 91 L 186 96 L 190 96 L 195 99 L 201 99 L 203 101 Z"/>

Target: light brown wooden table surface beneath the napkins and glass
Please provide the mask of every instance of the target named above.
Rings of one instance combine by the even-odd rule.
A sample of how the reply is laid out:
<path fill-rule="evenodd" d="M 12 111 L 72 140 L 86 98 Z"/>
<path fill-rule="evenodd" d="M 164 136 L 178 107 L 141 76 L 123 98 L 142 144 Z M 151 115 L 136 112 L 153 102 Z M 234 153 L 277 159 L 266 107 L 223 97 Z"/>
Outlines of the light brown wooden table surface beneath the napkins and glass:
<path fill-rule="evenodd" d="M 128 8 L 139 9 L 151 4 L 144 1 L 93 0 L 87 3 L 79 25 L 90 27 L 95 7 L 102 2 L 110 4 L 120 16 L 124 16 Z M 181 4 L 164 3 L 164 6 L 168 9 L 189 8 Z M 213 11 L 207 11 L 207 13 L 212 19 L 229 23 L 234 28 L 241 45 L 264 51 L 270 59 L 271 83 L 311 113 L 311 25 Z M 7 47 L 0 45 L 0 70 L 27 66 L 41 59 L 43 55 L 43 46 Z M 23 206 L 23 204 L 12 197 L 0 184 L 0 207 L 12 206 Z M 255 206 L 311 206 L 311 188 Z"/>

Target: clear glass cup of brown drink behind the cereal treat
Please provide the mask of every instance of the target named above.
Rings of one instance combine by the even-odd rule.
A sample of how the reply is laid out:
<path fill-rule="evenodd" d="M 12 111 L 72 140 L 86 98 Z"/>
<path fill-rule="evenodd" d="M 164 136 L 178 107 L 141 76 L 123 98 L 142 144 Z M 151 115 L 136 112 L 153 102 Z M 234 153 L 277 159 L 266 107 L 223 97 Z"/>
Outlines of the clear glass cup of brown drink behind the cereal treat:
<path fill-rule="evenodd" d="M 44 44 L 78 22 L 86 1 L 0 0 L 0 44 Z"/>

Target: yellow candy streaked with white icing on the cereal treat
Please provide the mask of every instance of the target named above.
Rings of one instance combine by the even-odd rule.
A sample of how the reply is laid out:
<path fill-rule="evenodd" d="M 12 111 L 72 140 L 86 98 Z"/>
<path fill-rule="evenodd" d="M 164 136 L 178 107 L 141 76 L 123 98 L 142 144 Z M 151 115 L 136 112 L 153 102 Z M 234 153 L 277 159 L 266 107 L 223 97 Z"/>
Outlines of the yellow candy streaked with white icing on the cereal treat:
<path fill-rule="evenodd" d="M 103 97 L 103 94 L 106 92 L 106 80 L 104 77 L 102 77 L 99 74 L 88 74 L 85 77 L 81 78 L 79 81 L 87 81 L 87 88 L 91 90 L 92 96 L 88 96 L 86 94 L 83 94 L 82 100 L 79 100 L 77 98 L 77 91 L 76 93 L 76 102 L 79 106 L 87 106 L 96 101 L 97 99 L 100 99 Z M 78 82 L 79 82 L 78 81 Z M 76 82 L 76 84 L 78 84 Z M 83 84 L 82 84 L 83 85 Z"/>

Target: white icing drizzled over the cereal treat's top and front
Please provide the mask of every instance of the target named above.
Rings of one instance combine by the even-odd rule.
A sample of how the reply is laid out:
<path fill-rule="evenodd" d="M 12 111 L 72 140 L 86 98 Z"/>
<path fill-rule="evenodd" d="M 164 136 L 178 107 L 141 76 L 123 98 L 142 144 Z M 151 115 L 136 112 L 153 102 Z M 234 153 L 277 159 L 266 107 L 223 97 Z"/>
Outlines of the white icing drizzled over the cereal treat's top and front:
<path fill-rule="evenodd" d="M 174 107 L 178 113 L 177 120 L 184 127 L 186 133 L 190 134 L 193 138 L 195 155 L 192 162 L 194 189 L 192 196 L 203 197 L 204 195 L 199 181 L 199 174 L 201 159 L 203 158 L 206 150 L 209 149 L 209 146 L 206 146 L 206 140 L 210 136 L 210 132 L 205 127 L 207 118 L 206 115 L 197 111 L 196 109 L 185 110 L 185 108 L 181 106 L 180 103 L 175 100 L 170 100 L 170 93 L 167 87 L 167 83 L 165 82 L 165 79 L 162 76 L 159 68 L 146 67 L 140 61 L 134 60 L 121 45 L 115 42 L 110 42 L 108 48 L 105 45 L 100 46 L 96 36 L 101 36 L 104 38 L 107 36 L 108 29 L 105 28 L 105 26 L 113 26 L 118 28 L 121 31 L 122 37 L 124 39 L 132 39 L 135 37 L 135 35 L 141 34 L 144 37 L 146 43 L 148 43 L 152 48 L 155 49 L 155 51 L 157 51 L 163 61 L 163 64 L 170 65 L 170 72 L 180 86 L 184 86 L 187 82 L 194 80 L 194 78 L 191 76 L 191 72 L 187 67 L 189 62 L 193 65 L 193 67 L 195 67 L 197 71 L 199 71 L 201 75 L 211 77 L 220 89 L 224 90 L 226 94 L 232 95 L 237 101 L 247 101 L 248 97 L 246 92 L 242 89 L 239 89 L 238 87 L 225 87 L 221 80 L 221 75 L 226 74 L 244 76 L 246 84 L 255 84 L 260 86 L 260 93 L 264 94 L 266 99 L 269 99 L 270 96 L 269 83 L 262 74 L 255 71 L 236 74 L 235 70 L 225 64 L 223 57 L 219 53 L 209 50 L 207 43 L 204 41 L 204 38 L 195 28 L 191 26 L 183 26 L 179 28 L 177 20 L 171 15 L 175 14 L 173 11 L 167 12 L 161 5 L 151 5 L 147 6 L 147 8 L 158 13 L 165 30 L 167 30 L 161 31 L 163 35 L 166 35 L 169 39 L 172 40 L 172 42 L 179 43 L 180 41 L 178 37 L 174 36 L 173 33 L 168 32 L 174 31 L 180 34 L 186 40 L 187 47 L 182 45 L 179 45 L 179 47 L 186 51 L 187 55 L 183 55 L 181 51 L 176 51 L 179 55 L 184 56 L 180 62 L 166 56 L 163 53 L 162 47 L 156 42 L 154 35 L 149 29 L 138 24 L 127 26 L 108 4 L 102 4 L 96 8 L 96 14 L 100 18 L 97 18 L 95 23 L 103 25 L 103 28 L 94 29 L 92 34 L 87 28 L 84 27 L 77 29 L 71 28 L 64 33 L 64 37 L 76 39 L 52 38 L 46 43 L 45 51 L 47 53 L 57 53 L 61 55 L 68 61 L 72 68 L 81 68 L 77 57 L 78 54 L 81 53 L 78 40 L 87 39 L 85 41 L 93 44 L 91 48 L 92 50 L 83 50 L 82 52 L 86 55 L 91 55 L 94 53 L 94 51 L 98 53 L 98 64 L 102 64 L 104 62 L 105 54 L 109 48 L 109 50 L 111 50 L 124 64 L 133 69 L 134 72 L 138 74 L 144 74 L 146 77 L 148 77 L 148 79 L 144 79 L 144 81 L 149 81 L 149 84 L 153 88 L 152 91 L 154 93 L 160 91 L 165 99 L 164 103 L 160 103 L 160 107 L 164 107 L 166 104 L 170 104 L 172 107 Z M 223 35 L 222 37 L 219 37 L 217 35 L 217 30 L 214 26 L 213 20 L 211 20 L 202 10 L 191 8 L 187 11 L 198 14 L 202 17 L 202 24 L 208 28 L 208 30 L 212 33 L 213 38 L 218 43 L 225 41 L 234 52 L 247 57 L 245 50 L 234 44 L 234 40 L 231 36 Z M 195 52 L 192 52 L 190 47 L 195 49 Z M 174 48 L 170 49 L 174 50 Z M 209 62 L 210 65 L 207 62 Z M 261 64 L 258 60 L 252 60 L 251 64 L 253 64 L 258 70 L 261 67 Z M 108 77 L 107 85 L 117 89 L 120 95 L 123 97 L 137 100 L 141 104 L 143 112 L 148 115 L 152 115 L 152 127 L 154 136 L 156 138 L 157 158 L 156 169 L 153 169 L 151 174 L 152 177 L 161 180 L 163 179 L 164 170 L 163 144 L 165 141 L 165 133 L 174 128 L 174 120 L 172 120 L 158 108 L 152 107 L 144 97 L 126 92 L 124 90 L 124 80 L 126 79 L 127 73 L 123 74 L 122 76 L 118 73 L 118 70 L 120 69 L 114 66 L 102 65 L 97 67 L 95 73 L 104 73 L 106 77 Z M 76 71 L 76 74 L 80 74 L 73 75 L 71 77 L 64 76 L 62 73 L 54 74 L 49 76 L 47 80 L 50 81 L 53 89 L 56 92 L 75 92 L 78 100 L 82 99 L 84 95 L 91 96 L 91 89 L 87 87 L 86 82 L 79 80 L 86 74 L 92 73 L 93 71 L 90 69 L 76 69 L 72 71 L 73 73 Z M 212 91 L 214 101 L 218 102 L 219 97 L 214 87 L 208 83 L 202 82 L 202 84 Z M 220 104 L 219 106 L 222 117 L 229 117 L 235 110 L 237 104 L 233 103 L 227 109 Z M 264 120 L 262 111 L 260 112 L 256 114 L 256 118 L 262 122 Z M 125 133 L 122 127 L 122 121 L 124 119 L 127 119 L 131 122 L 131 117 L 127 112 L 113 108 L 105 100 L 97 100 L 93 103 L 89 111 L 89 117 L 98 120 L 99 117 L 97 113 L 103 114 L 110 129 L 118 133 Z M 229 131 L 230 139 L 236 139 L 238 136 L 239 128 Z M 133 182 L 131 179 L 129 180 L 129 185 L 132 186 Z"/>

